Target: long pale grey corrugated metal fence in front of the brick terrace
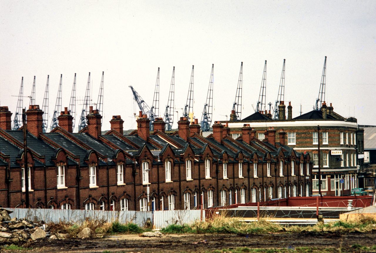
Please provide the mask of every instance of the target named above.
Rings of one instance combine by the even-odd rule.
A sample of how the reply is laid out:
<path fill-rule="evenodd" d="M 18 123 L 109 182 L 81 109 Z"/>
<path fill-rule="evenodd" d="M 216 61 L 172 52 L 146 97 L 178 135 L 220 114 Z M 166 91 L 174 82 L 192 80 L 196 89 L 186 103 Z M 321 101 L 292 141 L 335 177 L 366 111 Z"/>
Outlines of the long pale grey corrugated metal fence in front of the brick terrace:
<path fill-rule="evenodd" d="M 120 223 L 132 222 L 144 226 L 148 220 L 156 229 L 161 229 L 170 224 L 189 224 L 200 220 L 200 210 L 173 210 L 173 211 L 100 211 L 100 210 L 62 210 L 62 209 L 26 209 L 6 208 L 12 213 L 11 218 L 26 218 L 32 221 L 81 223 L 86 218 L 94 220 L 105 220 L 112 222 L 118 220 Z M 203 211 L 205 220 L 205 210 Z"/>

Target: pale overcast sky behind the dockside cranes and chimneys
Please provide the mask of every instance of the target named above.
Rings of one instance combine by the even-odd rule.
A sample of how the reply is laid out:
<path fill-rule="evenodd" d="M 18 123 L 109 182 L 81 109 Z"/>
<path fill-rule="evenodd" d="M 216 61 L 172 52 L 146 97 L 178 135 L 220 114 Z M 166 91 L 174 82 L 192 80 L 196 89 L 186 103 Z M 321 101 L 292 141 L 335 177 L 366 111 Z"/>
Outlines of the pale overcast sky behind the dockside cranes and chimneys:
<path fill-rule="evenodd" d="M 74 73 L 82 99 L 91 72 L 96 103 L 105 71 L 102 130 L 110 128 L 112 115 L 134 129 L 139 110 L 128 86 L 151 106 L 160 67 L 162 117 L 175 66 L 180 117 L 194 65 L 194 113 L 200 121 L 214 64 L 213 120 L 226 120 L 243 61 L 244 118 L 254 112 L 264 61 L 266 99 L 274 104 L 286 59 L 285 100 L 296 117 L 300 105 L 303 113 L 312 110 L 327 56 L 327 103 L 358 124 L 376 125 L 375 13 L 375 1 L 0 1 L 0 103 L 15 112 L 12 95 L 18 95 L 21 77 L 28 96 L 36 76 L 41 106 L 49 74 L 51 118 L 60 74 L 64 107 Z M 76 115 L 76 125 L 78 120 Z"/>

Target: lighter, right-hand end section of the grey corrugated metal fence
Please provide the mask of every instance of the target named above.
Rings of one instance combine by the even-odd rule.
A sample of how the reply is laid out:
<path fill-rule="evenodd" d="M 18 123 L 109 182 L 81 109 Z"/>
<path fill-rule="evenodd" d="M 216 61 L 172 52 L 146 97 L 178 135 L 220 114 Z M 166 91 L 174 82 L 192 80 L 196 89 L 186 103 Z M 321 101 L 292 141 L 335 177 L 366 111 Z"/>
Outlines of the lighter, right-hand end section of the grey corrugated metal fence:
<path fill-rule="evenodd" d="M 191 224 L 200 221 L 200 218 L 200 210 L 154 211 L 153 224 L 156 229 L 161 229 L 171 224 Z M 202 220 L 205 221 L 205 210 L 202 213 Z"/>

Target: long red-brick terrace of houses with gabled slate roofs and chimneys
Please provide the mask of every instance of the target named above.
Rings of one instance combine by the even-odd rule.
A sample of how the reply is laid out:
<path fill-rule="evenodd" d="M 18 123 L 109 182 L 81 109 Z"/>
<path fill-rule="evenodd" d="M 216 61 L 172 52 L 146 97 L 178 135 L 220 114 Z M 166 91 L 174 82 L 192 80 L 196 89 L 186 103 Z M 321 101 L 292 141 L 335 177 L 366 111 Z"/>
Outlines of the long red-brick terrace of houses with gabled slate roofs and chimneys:
<path fill-rule="evenodd" d="M 43 112 L 30 105 L 25 151 L 24 126 L 11 130 L 11 115 L 7 106 L 0 107 L 2 207 L 26 206 L 25 180 L 32 208 L 195 209 L 312 194 L 310 153 L 277 142 L 286 134 L 273 128 L 261 141 L 244 124 L 242 135 L 233 139 L 218 121 L 204 138 L 197 121 L 180 118 L 178 131 L 167 134 L 158 118 L 150 132 L 150 120 L 140 112 L 137 130 L 129 135 L 123 135 L 120 116 L 113 116 L 111 130 L 101 135 L 102 116 L 91 107 L 88 126 L 80 132 L 73 133 L 73 117 L 65 108 L 59 126 L 43 133 Z"/>

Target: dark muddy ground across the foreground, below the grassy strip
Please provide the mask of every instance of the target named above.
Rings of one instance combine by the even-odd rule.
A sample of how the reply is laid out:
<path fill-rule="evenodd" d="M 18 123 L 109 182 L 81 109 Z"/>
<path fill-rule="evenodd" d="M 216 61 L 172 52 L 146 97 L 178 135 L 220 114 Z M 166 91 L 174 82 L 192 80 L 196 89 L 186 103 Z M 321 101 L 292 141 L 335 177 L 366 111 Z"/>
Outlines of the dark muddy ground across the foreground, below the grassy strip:
<path fill-rule="evenodd" d="M 194 244 L 206 240 L 207 243 Z M 206 252 L 223 248 L 331 248 L 331 252 L 364 252 L 351 247 L 354 244 L 376 245 L 376 233 L 340 234 L 267 234 L 267 235 L 164 235 L 162 238 L 144 238 L 138 235 L 114 235 L 102 239 L 43 239 L 24 247 L 23 252 Z M 1 252 L 16 252 L 4 250 Z M 20 252 L 20 251 L 18 251 Z"/>

